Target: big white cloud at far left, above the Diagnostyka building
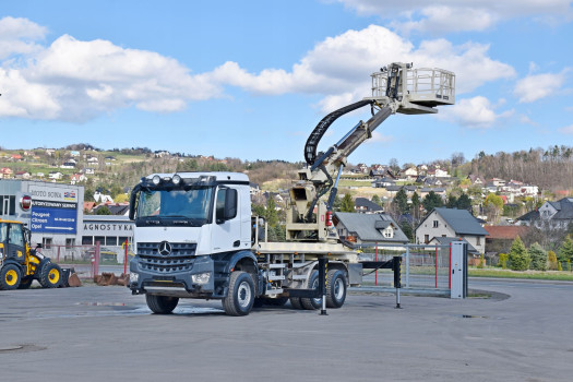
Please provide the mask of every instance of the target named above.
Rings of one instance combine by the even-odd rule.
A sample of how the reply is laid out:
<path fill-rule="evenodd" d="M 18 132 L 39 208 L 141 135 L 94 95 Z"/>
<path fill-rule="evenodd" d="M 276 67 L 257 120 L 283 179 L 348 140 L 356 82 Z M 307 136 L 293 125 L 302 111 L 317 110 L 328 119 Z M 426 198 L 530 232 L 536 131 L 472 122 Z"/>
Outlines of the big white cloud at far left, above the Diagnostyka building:
<path fill-rule="evenodd" d="M 64 35 L 24 63 L 0 71 L 0 116 L 82 122 L 134 105 L 171 112 L 190 100 L 220 96 L 204 74 L 191 75 L 176 60 L 124 49 L 110 41 Z"/>

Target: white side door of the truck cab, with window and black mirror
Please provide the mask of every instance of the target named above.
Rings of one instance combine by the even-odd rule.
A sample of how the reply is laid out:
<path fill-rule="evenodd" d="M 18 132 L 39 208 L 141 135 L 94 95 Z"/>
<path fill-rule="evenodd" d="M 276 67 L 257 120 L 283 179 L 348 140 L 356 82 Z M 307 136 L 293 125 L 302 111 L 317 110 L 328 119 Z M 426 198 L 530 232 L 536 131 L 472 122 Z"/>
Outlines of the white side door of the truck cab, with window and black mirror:
<path fill-rule="evenodd" d="M 218 187 L 215 195 L 215 211 L 211 242 L 213 252 L 226 252 L 240 249 L 241 224 L 240 203 L 237 190 Z M 235 205 L 235 210 L 229 210 Z"/>

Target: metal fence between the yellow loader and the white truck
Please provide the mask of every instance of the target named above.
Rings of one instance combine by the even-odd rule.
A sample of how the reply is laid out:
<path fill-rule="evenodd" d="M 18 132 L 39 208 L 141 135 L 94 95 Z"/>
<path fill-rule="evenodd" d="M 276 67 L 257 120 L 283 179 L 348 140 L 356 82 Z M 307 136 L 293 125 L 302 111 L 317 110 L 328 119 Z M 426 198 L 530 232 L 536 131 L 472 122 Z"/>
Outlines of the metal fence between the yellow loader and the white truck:
<path fill-rule="evenodd" d="M 116 275 L 127 273 L 128 263 L 133 255 L 131 244 L 122 246 L 55 246 L 38 250 L 61 267 L 74 268 L 80 278 L 94 278 L 102 272 Z M 126 262 L 127 259 L 127 262 Z"/>

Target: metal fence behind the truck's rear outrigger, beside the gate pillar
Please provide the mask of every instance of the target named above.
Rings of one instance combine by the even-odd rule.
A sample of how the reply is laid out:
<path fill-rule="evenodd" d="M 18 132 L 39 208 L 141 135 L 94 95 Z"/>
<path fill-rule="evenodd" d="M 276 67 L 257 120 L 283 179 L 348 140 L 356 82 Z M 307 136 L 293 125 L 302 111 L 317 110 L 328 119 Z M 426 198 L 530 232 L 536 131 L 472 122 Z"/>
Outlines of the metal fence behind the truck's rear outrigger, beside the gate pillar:
<path fill-rule="evenodd" d="M 420 244 L 359 244 L 360 258 L 363 260 L 391 260 L 402 256 L 402 287 L 411 289 L 450 290 L 451 254 L 450 246 Z M 394 287 L 391 270 L 370 272 L 365 270 L 366 286 Z"/>

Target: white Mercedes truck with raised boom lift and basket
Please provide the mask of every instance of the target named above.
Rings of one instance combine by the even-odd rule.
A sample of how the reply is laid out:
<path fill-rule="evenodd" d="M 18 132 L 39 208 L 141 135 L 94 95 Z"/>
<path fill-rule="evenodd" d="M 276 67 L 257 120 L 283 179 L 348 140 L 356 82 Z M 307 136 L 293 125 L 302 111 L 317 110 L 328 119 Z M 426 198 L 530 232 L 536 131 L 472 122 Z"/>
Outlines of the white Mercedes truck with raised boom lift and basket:
<path fill-rule="evenodd" d="M 145 294 L 155 313 L 170 313 L 180 298 L 220 299 L 229 315 L 255 303 L 339 308 L 363 267 L 332 224 L 332 204 L 346 158 L 390 115 L 437 112 L 455 102 L 455 76 L 440 69 L 392 63 L 372 74 L 372 96 L 324 117 L 305 147 L 308 168 L 290 189 L 286 242 L 270 242 L 251 216 L 249 179 L 237 172 L 152 174 L 131 194 L 135 256 L 129 288 Z M 371 106 L 338 143 L 317 153 L 320 139 L 344 114 Z M 335 180 L 334 180 L 335 179 Z M 322 200 L 331 191 L 327 202 Z M 326 261 L 327 259 L 327 261 Z M 393 265 L 395 267 L 395 264 Z M 395 270 L 396 271 L 396 270 Z M 399 272 L 399 270 L 397 270 Z"/>

